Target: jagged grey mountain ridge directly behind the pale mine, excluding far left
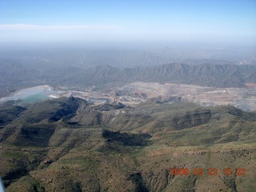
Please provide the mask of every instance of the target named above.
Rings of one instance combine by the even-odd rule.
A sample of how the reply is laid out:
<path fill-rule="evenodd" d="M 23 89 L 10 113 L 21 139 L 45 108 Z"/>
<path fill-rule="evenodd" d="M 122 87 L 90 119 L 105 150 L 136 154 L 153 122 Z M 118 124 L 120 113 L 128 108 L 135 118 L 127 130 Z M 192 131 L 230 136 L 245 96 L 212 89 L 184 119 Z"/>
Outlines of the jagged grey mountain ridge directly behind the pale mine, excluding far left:
<path fill-rule="evenodd" d="M 243 87 L 256 82 L 256 66 L 232 64 L 187 65 L 170 63 L 160 66 L 143 66 L 118 69 L 112 66 L 96 66 L 90 69 L 67 67 L 51 70 L 43 77 L 46 81 L 70 85 L 98 86 L 109 83 L 171 82 L 214 87 Z"/>

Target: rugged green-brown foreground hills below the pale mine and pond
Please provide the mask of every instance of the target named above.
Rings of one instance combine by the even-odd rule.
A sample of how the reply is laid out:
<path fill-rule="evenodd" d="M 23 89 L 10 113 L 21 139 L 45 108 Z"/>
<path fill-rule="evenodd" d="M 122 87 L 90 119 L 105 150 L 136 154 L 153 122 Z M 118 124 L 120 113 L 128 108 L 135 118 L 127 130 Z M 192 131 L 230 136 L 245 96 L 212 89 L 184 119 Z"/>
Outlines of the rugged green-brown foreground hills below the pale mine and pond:
<path fill-rule="evenodd" d="M 79 98 L 11 104 L 0 110 L 0 175 L 7 191 L 255 189 L 253 112 L 154 100 L 136 107 Z M 232 174 L 224 174 L 229 167 Z M 170 168 L 190 174 L 171 175 Z M 195 175 L 197 168 L 205 174 Z"/>

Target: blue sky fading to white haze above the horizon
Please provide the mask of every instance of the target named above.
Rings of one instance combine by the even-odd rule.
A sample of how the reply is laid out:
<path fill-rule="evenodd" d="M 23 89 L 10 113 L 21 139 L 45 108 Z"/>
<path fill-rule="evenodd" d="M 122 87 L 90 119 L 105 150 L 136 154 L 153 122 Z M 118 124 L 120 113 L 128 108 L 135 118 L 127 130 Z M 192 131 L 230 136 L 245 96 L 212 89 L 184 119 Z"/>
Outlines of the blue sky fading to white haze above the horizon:
<path fill-rule="evenodd" d="M 256 45 L 256 0 L 0 0 L 0 42 Z"/>

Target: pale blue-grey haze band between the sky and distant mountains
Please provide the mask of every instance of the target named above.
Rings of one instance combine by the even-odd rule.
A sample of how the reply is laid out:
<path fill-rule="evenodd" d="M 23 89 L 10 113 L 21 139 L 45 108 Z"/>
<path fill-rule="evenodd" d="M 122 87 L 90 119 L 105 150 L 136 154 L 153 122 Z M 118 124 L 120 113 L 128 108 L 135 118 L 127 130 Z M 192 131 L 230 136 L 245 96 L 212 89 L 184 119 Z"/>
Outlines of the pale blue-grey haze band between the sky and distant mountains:
<path fill-rule="evenodd" d="M 155 66 L 171 62 L 186 64 L 255 64 L 256 47 L 214 43 L 2 43 L 0 58 L 17 59 L 26 66 L 114 67 Z M 206 59 L 204 61 L 203 59 Z M 194 61 L 195 60 L 195 61 Z M 200 60 L 200 61 L 198 61 Z M 217 60 L 217 61 L 214 61 Z"/>

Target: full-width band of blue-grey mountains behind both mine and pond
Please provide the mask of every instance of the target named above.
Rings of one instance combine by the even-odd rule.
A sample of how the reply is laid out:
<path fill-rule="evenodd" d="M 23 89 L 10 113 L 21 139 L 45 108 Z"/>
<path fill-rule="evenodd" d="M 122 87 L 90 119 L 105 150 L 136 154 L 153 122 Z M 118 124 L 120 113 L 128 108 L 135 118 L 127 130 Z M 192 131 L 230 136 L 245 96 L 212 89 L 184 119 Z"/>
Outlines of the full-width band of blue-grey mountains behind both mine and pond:
<path fill-rule="evenodd" d="M 130 82 L 170 82 L 214 87 L 243 87 L 256 83 L 256 66 L 212 64 L 207 60 L 198 65 L 170 63 L 158 66 L 116 68 L 109 65 L 90 68 L 79 66 L 56 67 L 42 70 L 28 65 L 0 60 L 1 96 L 8 91 L 27 86 L 49 84 L 51 86 L 122 86 Z M 40 69 L 40 70 L 39 70 Z M 10 90 L 6 90 L 10 89 Z"/>

